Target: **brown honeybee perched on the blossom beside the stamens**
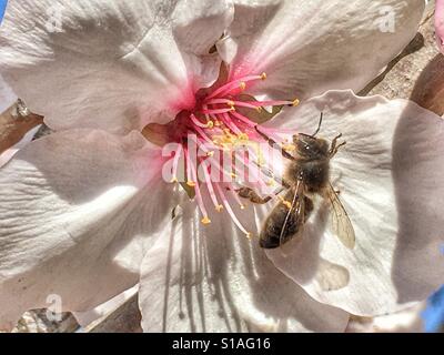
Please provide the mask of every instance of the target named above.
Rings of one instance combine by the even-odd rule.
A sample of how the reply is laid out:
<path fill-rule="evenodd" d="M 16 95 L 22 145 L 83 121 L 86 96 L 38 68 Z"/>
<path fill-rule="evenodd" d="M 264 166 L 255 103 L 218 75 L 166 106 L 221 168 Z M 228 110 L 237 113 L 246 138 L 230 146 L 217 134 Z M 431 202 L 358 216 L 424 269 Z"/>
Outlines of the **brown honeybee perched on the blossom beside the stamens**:
<path fill-rule="evenodd" d="M 294 154 L 283 150 L 256 126 L 258 133 L 271 146 L 279 148 L 282 155 L 289 160 L 282 182 L 285 189 L 284 197 L 281 197 L 281 201 L 271 211 L 260 233 L 259 243 L 263 248 L 279 247 L 302 231 L 313 211 L 311 196 L 315 194 L 321 195 L 330 206 L 333 232 L 346 247 L 354 247 L 353 225 L 330 182 L 330 160 L 341 146 L 345 145 L 345 142 L 339 143 L 342 134 L 335 136 L 331 143 L 316 138 L 321 123 L 322 113 L 314 134 L 297 133 L 293 135 Z M 271 196 L 262 199 L 250 187 L 241 187 L 238 193 L 253 203 L 266 203 L 271 200 Z"/>

